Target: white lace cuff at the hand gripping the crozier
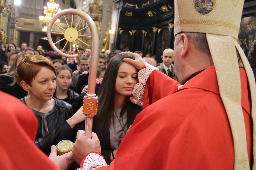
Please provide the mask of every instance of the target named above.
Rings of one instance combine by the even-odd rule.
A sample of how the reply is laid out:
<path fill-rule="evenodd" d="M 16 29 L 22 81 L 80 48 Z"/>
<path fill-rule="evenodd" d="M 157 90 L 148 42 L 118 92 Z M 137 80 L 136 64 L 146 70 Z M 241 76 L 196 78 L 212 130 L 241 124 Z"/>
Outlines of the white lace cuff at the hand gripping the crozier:
<path fill-rule="evenodd" d="M 93 170 L 94 168 L 97 168 L 98 166 L 108 166 L 106 164 L 105 159 L 103 159 L 102 156 L 96 154 L 96 153 L 90 153 L 86 159 L 84 160 L 83 163 L 83 168 L 82 169 L 77 169 L 77 170 Z"/>

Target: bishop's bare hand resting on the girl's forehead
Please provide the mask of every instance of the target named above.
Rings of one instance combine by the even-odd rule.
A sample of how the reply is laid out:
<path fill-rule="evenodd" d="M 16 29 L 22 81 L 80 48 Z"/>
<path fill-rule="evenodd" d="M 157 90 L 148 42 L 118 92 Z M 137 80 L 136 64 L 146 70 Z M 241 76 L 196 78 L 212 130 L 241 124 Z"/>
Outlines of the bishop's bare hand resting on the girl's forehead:
<path fill-rule="evenodd" d="M 132 53 L 129 51 L 119 53 L 119 55 L 122 55 L 122 54 L 128 54 L 128 55 L 133 56 L 135 58 L 135 60 L 132 60 L 130 58 L 124 58 L 124 62 L 133 65 L 138 70 L 141 70 L 142 67 L 145 65 L 145 62 L 142 60 L 142 57 L 139 54 L 135 54 L 135 53 Z"/>

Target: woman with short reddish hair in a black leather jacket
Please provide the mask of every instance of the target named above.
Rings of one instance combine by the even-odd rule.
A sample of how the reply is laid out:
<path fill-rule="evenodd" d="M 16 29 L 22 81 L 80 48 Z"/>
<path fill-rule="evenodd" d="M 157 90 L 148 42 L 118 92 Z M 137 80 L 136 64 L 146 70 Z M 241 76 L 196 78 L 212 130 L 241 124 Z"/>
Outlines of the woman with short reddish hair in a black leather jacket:
<path fill-rule="evenodd" d="M 38 118 L 35 144 L 47 155 L 51 146 L 64 139 L 74 140 L 72 128 L 85 120 L 82 107 L 73 115 L 72 106 L 53 98 L 56 89 L 56 69 L 41 55 L 23 58 L 16 69 L 15 78 L 28 96 L 20 99 Z"/>

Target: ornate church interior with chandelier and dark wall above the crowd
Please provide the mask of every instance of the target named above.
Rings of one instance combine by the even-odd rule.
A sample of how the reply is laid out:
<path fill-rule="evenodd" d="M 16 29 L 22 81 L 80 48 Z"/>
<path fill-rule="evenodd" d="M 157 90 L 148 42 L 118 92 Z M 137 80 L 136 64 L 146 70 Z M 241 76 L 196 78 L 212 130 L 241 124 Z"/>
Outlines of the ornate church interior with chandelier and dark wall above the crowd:
<path fill-rule="evenodd" d="M 46 36 L 49 20 L 60 10 L 75 8 L 87 13 L 95 22 L 100 51 L 128 48 L 132 52 L 140 50 L 144 56 L 149 54 L 161 60 L 163 50 L 173 48 L 173 0 L 1 0 L 0 6 L 0 42 L 14 43 L 18 47 L 22 42 L 26 42 L 29 47 L 36 48 L 41 45 L 43 49 L 51 51 Z M 249 17 L 252 23 L 253 34 L 250 34 L 250 38 L 255 46 L 256 0 L 245 0 L 242 19 L 246 17 Z M 68 14 L 66 18 L 60 17 L 56 22 L 63 28 L 67 28 L 65 19 L 69 24 L 72 20 L 73 27 L 79 22 L 77 28 L 81 30 L 88 24 L 83 19 L 79 21 L 80 18 L 74 15 L 72 19 L 72 15 Z M 63 30 L 54 25 L 52 32 L 61 33 Z M 79 34 L 83 36 L 81 40 L 84 43 L 75 41 L 76 44 L 73 43 L 72 48 L 75 48 L 75 45 L 86 48 L 85 44 L 91 47 L 92 41 L 88 37 L 90 29 L 84 29 Z M 245 36 L 248 35 L 240 36 L 241 46 Z M 62 38 L 61 34 L 52 34 L 53 42 Z M 247 38 L 245 43 L 249 44 L 250 38 Z M 56 44 L 56 47 L 62 49 L 65 44 L 64 40 Z M 69 46 L 68 44 L 65 48 L 68 49 Z M 246 54 L 248 49 L 244 50 Z M 252 51 L 252 57 L 248 60 L 254 68 L 256 50 Z"/>

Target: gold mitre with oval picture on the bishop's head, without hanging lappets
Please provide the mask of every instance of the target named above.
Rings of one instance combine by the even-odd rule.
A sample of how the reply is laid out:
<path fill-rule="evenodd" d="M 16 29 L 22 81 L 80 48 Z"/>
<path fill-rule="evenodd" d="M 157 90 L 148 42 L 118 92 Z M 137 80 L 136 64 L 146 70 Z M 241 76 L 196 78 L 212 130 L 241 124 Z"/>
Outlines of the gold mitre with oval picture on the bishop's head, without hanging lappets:
<path fill-rule="evenodd" d="M 238 37 L 244 0 L 176 0 L 174 36 L 199 32 Z"/>

